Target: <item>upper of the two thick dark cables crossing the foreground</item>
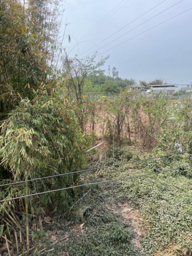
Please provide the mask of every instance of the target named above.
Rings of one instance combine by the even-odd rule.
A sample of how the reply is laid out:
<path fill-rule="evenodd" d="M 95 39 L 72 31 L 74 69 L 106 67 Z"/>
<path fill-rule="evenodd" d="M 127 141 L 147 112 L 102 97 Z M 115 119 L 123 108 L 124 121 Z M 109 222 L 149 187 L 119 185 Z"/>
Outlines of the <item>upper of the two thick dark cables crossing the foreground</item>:
<path fill-rule="evenodd" d="M 27 181 L 17 181 L 17 182 L 13 182 L 13 183 L 2 184 L 2 185 L 0 185 L 0 187 L 16 185 L 16 184 L 26 183 L 26 182 L 31 182 L 31 181 L 38 181 L 38 180 L 43 180 L 43 179 L 49 179 L 49 178 L 54 178 L 54 177 L 61 177 L 61 176 L 68 175 L 68 174 L 94 171 L 94 170 L 101 170 L 101 169 L 105 169 L 105 168 L 109 168 L 109 167 L 121 166 L 121 165 L 130 164 L 130 163 L 143 162 L 143 161 L 148 161 L 148 160 L 153 160 L 153 159 L 163 158 L 163 157 L 169 157 L 169 156 L 174 156 L 174 155 L 179 155 L 179 154 L 184 154 L 184 153 L 189 153 L 189 152 L 192 152 L 192 150 L 188 150 L 188 151 L 184 151 L 184 152 L 178 152 L 178 153 L 174 153 L 174 154 L 168 154 L 168 155 L 164 155 L 164 156 L 156 156 L 156 157 L 151 157 L 151 158 L 146 158 L 146 159 L 141 159 L 141 160 L 134 160 L 134 161 L 124 162 L 124 163 L 116 163 L 115 165 L 96 167 L 96 168 L 92 168 L 92 169 L 86 169 L 86 170 L 80 170 L 80 171 L 74 171 L 74 172 L 68 172 L 68 173 L 61 173 L 61 174 L 56 174 L 56 175 L 31 179 L 31 180 L 27 180 Z"/>

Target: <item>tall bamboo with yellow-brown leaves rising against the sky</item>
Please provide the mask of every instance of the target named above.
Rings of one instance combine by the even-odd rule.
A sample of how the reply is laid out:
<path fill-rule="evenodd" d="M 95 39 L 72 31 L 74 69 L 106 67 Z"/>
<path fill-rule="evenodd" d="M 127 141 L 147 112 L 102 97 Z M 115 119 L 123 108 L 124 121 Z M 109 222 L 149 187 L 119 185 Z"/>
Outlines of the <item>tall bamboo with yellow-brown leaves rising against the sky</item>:
<path fill-rule="evenodd" d="M 59 2 L 0 1 L 0 119 L 51 74 Z"/>

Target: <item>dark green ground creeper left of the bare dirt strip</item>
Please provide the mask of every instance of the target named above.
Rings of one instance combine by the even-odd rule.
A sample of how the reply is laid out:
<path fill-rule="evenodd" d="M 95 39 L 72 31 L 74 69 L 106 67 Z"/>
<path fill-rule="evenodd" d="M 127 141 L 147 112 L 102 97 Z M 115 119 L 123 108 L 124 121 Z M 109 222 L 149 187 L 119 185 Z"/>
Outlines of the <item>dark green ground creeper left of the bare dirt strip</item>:
<path fill-rule="evenodd" d="M 92 189 L 91 189 L 92 190 Z M 70 239 L 65 243 L 65 253 L 68 255 L 139 255 L 139 250 L 133 244 L 133 234 L 128 223 L 120 219 L 118 214 L 108 210 L 103 203 L 108 203 L 110 193 L 95 188 L 84 205 L 89 208 L 84 219 L 76 219 L 77 225 L 84 222 L 83 230 L 76 232 L 66 230 Z M 101 201 L 103 202 L 101 205 Z M 82 205 L 78 206 L 82 208 Z M 79 232 L 80 231 L 80 232 Z"/>

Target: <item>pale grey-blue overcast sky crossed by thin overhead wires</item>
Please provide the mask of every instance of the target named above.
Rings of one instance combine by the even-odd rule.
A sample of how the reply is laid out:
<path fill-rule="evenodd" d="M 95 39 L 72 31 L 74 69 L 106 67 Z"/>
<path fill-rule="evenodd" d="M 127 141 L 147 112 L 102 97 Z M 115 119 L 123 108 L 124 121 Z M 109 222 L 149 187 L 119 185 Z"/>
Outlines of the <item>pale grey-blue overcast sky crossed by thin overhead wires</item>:
<path fill-rule="evenodd" d="M 142 15 L 163 0 L 67 0 L 68 9 L 65 11 L 67 22 L 67 34 L 72 35 L 71 43 L 64 42 L 64 46 L 72 47 L 77 42 L 92 41 L 98 44 L 133 19 Z M 105 44 L 128 32 L 147 19 L 164 11 L 179 0 L 165 0 L 162 4 L 131 23 L 112 37 L 97 45 L 101 48 Z M 118 5 L 121 3 L 120 5 Z M 67 6 L 66 5 L 66 6 Z M 117 6 L 118 5 L 118 6 Z M 117 6 L 116 9 L 114 9 Z M 122 6 L 122 7 L 121 7 Z M 108 44 L 99 50 L 100 58 L 109 55 L 105 68 L 108 65 L 116 67 L 119 76 L 139 80 L 164 79 L 168 83 L 192 82 L 192 10 L 169 20 L 168 22 L 149 30 L 148 32 L 131 39 L 130 41 L 107 51 L 108 49 L 126 41 L 135 35 L 167 20 L 187 9 L 192 8 L 192 0 L 183 0 L 173 8 L 165 11 L 157 17 L 149 20 L 142 26 L 125 34 L 123 37 Z M 114 11 L 112 11 L 114 9 Z M 119 9 L 119 10 L 117 10 Z M 112 12 L 111 12 L 112 11 Z M 116 12 L 115 12 L 116 11 Z M 111 12 L 111 13 L 110 13 Z M 114 13 L 115 12 L 115 13 Z M 99 23 L 108 13 L 108 19 Z M 106 18 L 107 18 L 106 17 Z M 105 21 L 105 22 L 104 22 Z M 96 24 L 101 24 L 92 29 Z M 62 29 L 64 25 L 62 25 Z M 91 30 L 92 29 L 92 30 Z M 82 37 L 88 32 L 87 36 Z M 66 39 L 67 40 L 67 39 Z M 79 54 L 84 57 L 97 50 L 91 42 L 80 43 L 75 47 L 70 56 Z M 89 48 L 90 51 L 84 53 Z M 68 48 L 67 48 L 68 49 Z M 70 49 L 70 48 L 69 48 Z M 102 52 L 106 53 L 101 54 Z M 69 52 L 69 51 L 68 51 Z M 83 55 L 81 55 L 84 53 Z M 99 60 L 99 56 L 97 57 Z"/>

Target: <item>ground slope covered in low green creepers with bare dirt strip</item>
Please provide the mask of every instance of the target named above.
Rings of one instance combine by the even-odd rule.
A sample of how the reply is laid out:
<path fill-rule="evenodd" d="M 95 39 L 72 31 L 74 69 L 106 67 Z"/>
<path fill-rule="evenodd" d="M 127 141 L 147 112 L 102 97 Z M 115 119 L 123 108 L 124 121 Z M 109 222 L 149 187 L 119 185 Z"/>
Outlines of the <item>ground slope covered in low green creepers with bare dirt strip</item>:
<path fill-rule="evenodd" d="M 112 146 L 100 164 L 150 156 L 133 147 Z M 95 163 L 96 159 L 91 165 L 95 166 Z M 154 175 L 81 190 L 81 200 L 71 209 L 69 221 L 60 220 L 55 227 L 47 227 L 55 232 L 56 241 L 66 236 L 64 241 L 52 246 L 54 253 L 48 255 L 191 255 L 192 169 L 180 168 L 155 174 L 159 170 L 190 164 L 191 156 L 186 153 L 87 172 L 82 176 L 83 183 L 152 172 Z M 62 236 L 58 230 L 62 230 Z M 48 242 L 47 239 L 45 241 Z"/>

